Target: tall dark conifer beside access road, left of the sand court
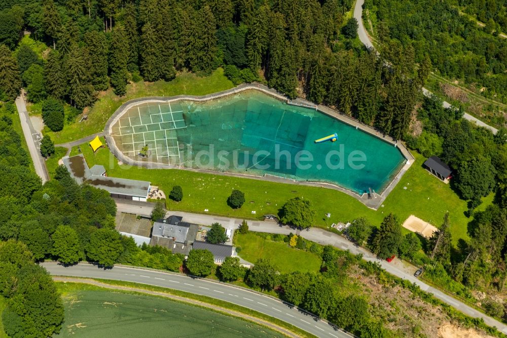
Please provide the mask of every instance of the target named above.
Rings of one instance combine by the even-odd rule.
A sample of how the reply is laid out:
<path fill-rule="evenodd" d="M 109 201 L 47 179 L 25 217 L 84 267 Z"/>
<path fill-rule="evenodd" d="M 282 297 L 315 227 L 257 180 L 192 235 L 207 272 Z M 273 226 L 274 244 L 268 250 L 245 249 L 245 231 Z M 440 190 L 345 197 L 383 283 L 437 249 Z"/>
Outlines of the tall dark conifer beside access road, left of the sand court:
<path fill-rule="evenodd" d="M 384 217 L 373 239 L 373 251 L 380 259 L 386 259 L 398 253 L 402 241 L 400 222 L 394 214 L 390 213 Z"/>

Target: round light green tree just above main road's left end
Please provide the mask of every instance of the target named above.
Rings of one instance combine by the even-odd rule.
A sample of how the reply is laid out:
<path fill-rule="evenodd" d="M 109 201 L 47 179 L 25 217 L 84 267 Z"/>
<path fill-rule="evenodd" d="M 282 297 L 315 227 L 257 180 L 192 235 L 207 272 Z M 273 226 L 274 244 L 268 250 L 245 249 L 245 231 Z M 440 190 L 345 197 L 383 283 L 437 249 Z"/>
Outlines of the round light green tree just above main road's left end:
<path fill-rule="evenodd" d="M 59 225 L 51 236 L 51 254 L 63 264 L 75 264 L 80 258 L 80 242 L 76 230 L 68 225 Z"/>

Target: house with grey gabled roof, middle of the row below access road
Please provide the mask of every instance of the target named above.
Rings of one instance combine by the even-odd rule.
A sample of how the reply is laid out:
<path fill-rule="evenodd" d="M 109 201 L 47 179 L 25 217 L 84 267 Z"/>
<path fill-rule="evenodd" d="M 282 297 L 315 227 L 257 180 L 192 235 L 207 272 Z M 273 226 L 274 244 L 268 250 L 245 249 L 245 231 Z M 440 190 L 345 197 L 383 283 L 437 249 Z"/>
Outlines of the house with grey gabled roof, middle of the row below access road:
<path fill-rule="evenodd" d="M 181 216 L 170 216 L 153 224 L 150 245 L 161 246 L 172 251 L 188 255 L 197 236 L 197 224 L 183 222 Z"/>

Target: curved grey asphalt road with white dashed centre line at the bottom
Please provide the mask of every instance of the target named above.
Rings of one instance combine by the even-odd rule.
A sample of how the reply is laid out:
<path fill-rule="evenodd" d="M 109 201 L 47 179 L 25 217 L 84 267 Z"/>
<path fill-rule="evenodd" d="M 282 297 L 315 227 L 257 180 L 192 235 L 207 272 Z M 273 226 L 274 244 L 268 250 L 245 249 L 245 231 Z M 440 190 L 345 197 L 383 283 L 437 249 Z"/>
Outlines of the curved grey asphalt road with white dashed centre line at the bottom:
<path fill-rule="evenodd" d="M 264 313 L 318 337 L 352 337 L 352 335 L 336 329 L 327 322 L 318 320 L 293 306 L 289 306 L 281 300 L 226 283 L 127 266 L 115 266 L 112 269 L 104 270 L 88 263 L 80 263 L 69 267 L 63 267 L 56 262 L 44 262 L 41 265 L 54 276 L 111 279 L 186 291 L 225 300 Z"/>

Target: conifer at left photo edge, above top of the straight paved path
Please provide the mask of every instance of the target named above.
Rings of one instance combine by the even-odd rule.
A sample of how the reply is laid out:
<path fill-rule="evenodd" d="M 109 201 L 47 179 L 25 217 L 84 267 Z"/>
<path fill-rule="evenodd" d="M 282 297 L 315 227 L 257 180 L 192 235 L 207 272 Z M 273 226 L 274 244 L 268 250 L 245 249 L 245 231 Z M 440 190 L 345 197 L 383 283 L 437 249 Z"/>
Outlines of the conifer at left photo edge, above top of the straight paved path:
<path fill-rule="evenodd" d="M 0 99 L 14 100 L 21 89 L 16 59 L 6 45 L 0 45 Z"/>

